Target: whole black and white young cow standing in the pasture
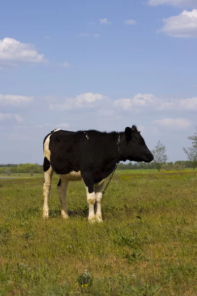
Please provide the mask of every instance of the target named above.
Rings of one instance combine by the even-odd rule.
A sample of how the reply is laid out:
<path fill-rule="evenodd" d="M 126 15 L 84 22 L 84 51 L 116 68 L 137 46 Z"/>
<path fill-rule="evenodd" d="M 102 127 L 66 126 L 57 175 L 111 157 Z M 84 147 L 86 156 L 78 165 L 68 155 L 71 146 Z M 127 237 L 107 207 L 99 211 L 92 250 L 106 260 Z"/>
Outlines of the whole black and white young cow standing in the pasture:
<path fill-rule="evenodd" d="M 120 136 L 120 155 L 118 138 Z M 105 179 L 113 172 L 119 160 L 151 162 L 154 158 L 135 125 L 124 132 L 96 130 L 70 132 L 56 129 L 48 134 L 44 148 L 44 206 L 43 218 L 49 216 L 48 197 L 55 171 L 60 176 L 58 191 L 61 214 L 67 218 L 66 189 L 69 181 L 83 180 L 89 204 L 89 221 L 102 221 L 101 199 Z M 94 204 L 97 203 L 96 213 Z"/>

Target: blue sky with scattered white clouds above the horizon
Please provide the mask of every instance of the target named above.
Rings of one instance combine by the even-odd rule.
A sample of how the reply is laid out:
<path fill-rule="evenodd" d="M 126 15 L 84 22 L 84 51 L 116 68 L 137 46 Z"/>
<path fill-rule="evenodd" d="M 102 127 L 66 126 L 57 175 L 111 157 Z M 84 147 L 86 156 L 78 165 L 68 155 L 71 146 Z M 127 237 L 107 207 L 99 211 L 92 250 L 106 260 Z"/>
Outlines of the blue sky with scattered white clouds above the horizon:
<path fill-rule="evenodd" d="M 136 124 L 168 160 L 197 125 L 197 0 L 7 0 L 0 17 L 0 163 L 42 163 L 55 128 Z"/>

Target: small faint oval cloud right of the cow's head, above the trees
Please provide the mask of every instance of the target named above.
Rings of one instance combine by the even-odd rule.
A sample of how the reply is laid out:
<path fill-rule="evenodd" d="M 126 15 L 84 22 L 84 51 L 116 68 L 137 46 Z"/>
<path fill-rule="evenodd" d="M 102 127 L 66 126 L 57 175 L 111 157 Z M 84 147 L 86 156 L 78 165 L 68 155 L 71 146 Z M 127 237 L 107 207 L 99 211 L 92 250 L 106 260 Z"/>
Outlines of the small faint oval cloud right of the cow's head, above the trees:
<path fill-rule="evenodd" d="M 187 129 L 192 122 L 187 118 L 163 118 L 156 119 L 154 123 L 170 128 L 170 130 Z"/>

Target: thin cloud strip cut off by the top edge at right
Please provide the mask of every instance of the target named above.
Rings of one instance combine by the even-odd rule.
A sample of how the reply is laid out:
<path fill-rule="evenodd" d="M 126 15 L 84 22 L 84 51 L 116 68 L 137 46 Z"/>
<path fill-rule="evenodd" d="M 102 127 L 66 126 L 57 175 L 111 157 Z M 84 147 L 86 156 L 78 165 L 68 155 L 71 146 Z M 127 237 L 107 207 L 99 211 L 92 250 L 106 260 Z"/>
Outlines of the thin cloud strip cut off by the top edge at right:
<path fill-rule="evenodd" d="M 149 5 L 158 6 L 158 5 L 172 5 L 177 7 L 192 7 L 197 8 L 197 0 L 149 0 Z"/>

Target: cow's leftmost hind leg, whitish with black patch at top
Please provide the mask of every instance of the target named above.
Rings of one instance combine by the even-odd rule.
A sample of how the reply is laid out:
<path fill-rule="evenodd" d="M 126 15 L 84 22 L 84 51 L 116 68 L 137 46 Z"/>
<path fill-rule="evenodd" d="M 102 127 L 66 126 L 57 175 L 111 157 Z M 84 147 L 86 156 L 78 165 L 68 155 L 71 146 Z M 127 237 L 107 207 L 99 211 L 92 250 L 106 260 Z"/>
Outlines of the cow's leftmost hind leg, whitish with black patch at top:
<path fill-rule="evenodd" d="M 43 184 L 43 196 L 44 196 L 44 205 L 43 205 L 43 218 L 49 217 L 49 206 L 48 198 L 51 191 L 51 180 L 53 177 L 53 169 L 51 167 L 50 161 L 44 157 L 43 163 L 44 169 L 44 184 Z"/>

